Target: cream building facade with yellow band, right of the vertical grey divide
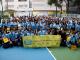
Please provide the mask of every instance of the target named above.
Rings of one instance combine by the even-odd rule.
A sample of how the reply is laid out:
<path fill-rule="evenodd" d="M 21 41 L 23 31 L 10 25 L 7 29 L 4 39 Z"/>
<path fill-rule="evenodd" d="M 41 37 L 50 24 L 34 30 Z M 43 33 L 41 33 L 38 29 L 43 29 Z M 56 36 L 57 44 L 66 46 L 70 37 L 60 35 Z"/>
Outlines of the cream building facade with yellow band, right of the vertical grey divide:
<path fill-rule="evenodd" d="M 49 6 L 48 0 L 32 0 L 32 8 L 34 15 L 52 15 L 56 11 L 56 6 L 54 4 Z M 57 10 L 59 12 L 61 9 L 57 8 Z M 66 10 L 65 2 L 63 2 L 62 10 Z"/>

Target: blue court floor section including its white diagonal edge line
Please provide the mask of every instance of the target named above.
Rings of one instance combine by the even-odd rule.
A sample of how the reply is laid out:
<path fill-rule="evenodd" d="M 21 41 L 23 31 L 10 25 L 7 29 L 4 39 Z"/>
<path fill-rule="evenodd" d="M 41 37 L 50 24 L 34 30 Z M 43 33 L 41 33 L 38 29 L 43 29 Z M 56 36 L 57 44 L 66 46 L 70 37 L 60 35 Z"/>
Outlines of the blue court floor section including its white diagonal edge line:
<path fill-rule="evenodd" d="M 0 60 L 56 60 L 48 48 L 0 48 Z"/>

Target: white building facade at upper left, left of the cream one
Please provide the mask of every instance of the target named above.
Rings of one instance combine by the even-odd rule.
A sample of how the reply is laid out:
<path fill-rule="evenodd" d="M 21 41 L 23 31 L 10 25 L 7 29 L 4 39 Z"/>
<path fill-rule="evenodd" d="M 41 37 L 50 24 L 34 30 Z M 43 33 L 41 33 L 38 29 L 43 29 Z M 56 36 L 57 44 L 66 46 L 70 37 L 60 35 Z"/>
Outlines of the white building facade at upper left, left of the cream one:
<path fill-rule="evenodd" d="M 30 8 L 29 5 L 30 0 L 2 0 L 2 2 L 3 11 L 13 10 L 14 16 L 24 16 L 32 14 L 32 8 Z"/>

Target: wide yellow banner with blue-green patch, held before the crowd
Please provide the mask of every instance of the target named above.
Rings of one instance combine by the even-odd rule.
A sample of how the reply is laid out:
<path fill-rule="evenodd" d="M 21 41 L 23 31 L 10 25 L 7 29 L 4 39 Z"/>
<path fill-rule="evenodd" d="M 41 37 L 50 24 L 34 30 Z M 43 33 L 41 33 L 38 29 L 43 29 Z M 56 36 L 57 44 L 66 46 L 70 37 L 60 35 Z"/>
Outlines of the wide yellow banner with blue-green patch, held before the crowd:
<path fill-rule="evenodd" d="M 60 35 L 34 35 L 23 37 L 24 47 L 59 47 L 60 43 Z"/>

